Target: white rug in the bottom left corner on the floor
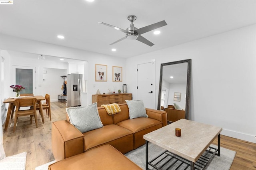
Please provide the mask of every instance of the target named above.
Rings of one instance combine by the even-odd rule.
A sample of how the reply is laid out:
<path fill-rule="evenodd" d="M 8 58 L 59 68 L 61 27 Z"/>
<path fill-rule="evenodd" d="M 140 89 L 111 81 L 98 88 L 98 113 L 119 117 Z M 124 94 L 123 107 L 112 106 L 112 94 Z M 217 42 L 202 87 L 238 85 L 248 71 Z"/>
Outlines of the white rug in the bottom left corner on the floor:
<path fill-rule="evenodd" d="M 1 170 L 25 170 L 27 152 L 22 152 L 13 156 L 8 156 L 0 160 Z"/>

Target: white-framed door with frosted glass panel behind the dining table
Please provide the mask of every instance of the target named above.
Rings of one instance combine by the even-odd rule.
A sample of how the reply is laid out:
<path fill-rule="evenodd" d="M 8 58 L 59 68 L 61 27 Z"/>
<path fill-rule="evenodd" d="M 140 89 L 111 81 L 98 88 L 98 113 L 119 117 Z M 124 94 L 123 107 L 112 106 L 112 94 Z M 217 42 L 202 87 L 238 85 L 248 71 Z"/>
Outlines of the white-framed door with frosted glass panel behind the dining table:
<path fill-rule="evenodd" d="M 33 93 L 36 95 L 36 67 L 12 66 L 12 85 L 25 87 L 20 94 Z M 15 96 L 13 92 L 12 96 Z"/>

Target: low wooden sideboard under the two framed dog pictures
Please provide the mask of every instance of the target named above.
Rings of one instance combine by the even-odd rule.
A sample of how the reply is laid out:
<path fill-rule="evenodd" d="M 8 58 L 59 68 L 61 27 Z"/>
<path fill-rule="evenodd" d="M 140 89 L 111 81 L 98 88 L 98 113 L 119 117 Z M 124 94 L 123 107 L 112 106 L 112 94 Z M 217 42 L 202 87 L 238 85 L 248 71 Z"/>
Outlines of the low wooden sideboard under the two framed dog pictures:
<path fill-rule="evenodd" d="M 92 95 L 92 103 L 97 102 L 98 107 L 111 103 L 126 103 L 125 100 L 132 100 L 132 93 L 116 93 L 107 95 Z"/>

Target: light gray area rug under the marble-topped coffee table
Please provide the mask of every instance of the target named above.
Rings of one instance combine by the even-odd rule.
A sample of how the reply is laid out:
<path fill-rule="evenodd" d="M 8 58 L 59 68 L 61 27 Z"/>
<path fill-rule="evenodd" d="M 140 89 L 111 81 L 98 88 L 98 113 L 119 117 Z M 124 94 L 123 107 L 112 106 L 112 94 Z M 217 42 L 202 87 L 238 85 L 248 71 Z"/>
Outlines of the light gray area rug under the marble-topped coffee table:
<path fill-rule="evenodd" d="M 215 145 L 211 145 L 214 148 L 218 148 Z M 163 148 L 160 146 L 157 146 L 155 144 L 149 143 L 148 144 L 148 159 L 152 160 L 154 157 L 159 155 L 164 151 Z M 134 163 L 136 163 L 138 166 L 140 166 L 142 169 L 145 170 L 145 162 L 146 162 L 146 146 L 140 146 L 136 150 L 132 150 L 126 154 L 124 154 L 127 158 L 132 160 Z M 206 170 L 229 170 L 230 166 L 234 160 L 234 157 L 236 155 L 236 152 L 233 150 L 229 150 L 226 148 L 220 147 L 220 156 L 214 156 L 212 161 L 210 162 L 209 166 L 206 168 Z M 36 167 L 36 170 L 48 170 L 48 165 L 54 163 L 55 161 L 49 162 L 47 164 L 41 165 Z M 151 166 L 149 166 L 150 169 L 152 169 Z"/>

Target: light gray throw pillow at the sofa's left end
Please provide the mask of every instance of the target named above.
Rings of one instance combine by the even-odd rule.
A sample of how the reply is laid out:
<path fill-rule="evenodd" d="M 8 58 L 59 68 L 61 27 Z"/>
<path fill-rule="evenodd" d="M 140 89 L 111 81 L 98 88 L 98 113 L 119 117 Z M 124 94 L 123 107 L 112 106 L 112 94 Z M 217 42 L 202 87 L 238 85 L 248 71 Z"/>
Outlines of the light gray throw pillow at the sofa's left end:
<path fill-rule="evenodd" d="M 82 133 L 103 127 L 97 109 L 97 103 L 86 107 L 66 108 L 70 123 Z"/>

